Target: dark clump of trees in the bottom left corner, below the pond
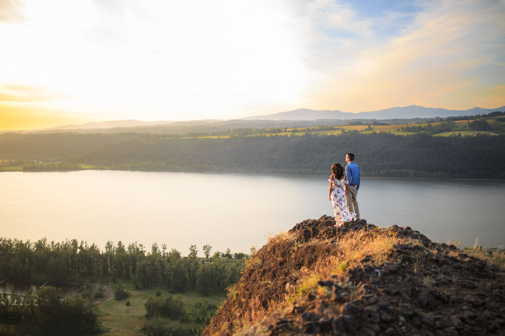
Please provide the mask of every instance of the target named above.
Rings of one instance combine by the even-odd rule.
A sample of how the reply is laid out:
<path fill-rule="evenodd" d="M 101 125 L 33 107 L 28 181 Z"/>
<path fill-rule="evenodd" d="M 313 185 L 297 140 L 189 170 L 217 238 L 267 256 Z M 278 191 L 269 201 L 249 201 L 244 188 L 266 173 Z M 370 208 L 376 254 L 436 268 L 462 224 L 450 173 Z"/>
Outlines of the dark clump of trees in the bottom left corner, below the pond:
<path fill-rule="evenodd" d="M 2 335 L 79 335 L 97 334 L 99 327 L 89 301 L 46 286 L 24 296 L 0 294 L 0 334 Z"/>

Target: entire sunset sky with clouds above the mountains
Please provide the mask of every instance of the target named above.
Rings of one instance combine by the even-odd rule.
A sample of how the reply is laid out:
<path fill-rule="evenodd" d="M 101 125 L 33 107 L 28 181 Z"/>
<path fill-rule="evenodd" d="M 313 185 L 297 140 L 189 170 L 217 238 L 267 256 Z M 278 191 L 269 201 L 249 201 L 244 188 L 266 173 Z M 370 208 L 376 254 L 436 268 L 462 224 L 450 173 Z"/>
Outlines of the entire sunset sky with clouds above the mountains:
<path fill-rule="evenodd" d="M 0 0 L 0 130 L 505 105 L 505 0 Z"/>

